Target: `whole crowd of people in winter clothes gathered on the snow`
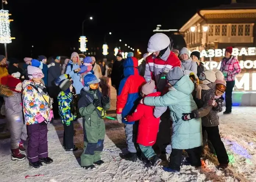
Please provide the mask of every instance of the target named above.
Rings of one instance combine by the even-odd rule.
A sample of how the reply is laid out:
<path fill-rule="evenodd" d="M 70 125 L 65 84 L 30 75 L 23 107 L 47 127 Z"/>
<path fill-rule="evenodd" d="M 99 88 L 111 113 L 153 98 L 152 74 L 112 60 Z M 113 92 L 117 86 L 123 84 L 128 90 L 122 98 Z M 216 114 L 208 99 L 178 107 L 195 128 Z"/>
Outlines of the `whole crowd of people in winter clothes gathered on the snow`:
<path fill-rule="evenodd" d="M 232 47 L 226 48 L 220 71 L 205 70 L 200 52 L 169 47 L 166 34 L 150 37 L 144 61 L 129 52 L 116 55 L 107 66 L 95 57 L 73 52 L 60 65 L 60 56 L 17 59 L 0 55 L 0 98 L 5 101 L 11 132 L 11 159 L 29 160 L 38 168 L 53 160 L 48 156 L 47 124 L 60 117 L 64 126 L 63 148 L 75 151 L 73 121 L 82 117 L 84 149 L 81 166 L 104 163 L 100 153 L 105 136 L 104 118 L 110 108 L 110 85 L 117 91 L 117 121 L 124 123 L 128 153 L 125 160 L 142 160 L 156 166 L 170 154 L 169 172 L 179 172 L 184 150 L 185 165 L 201 166 L 204 144 L 216 153 L 223 170 L 229 160 L 221 141 L 218 112 L 231 113 L 235 75 L 241 72 Z M 109 68 L 110 67 L 110 68 Z M 110 75 L 111 71 L 111 75 Z M 101 88 L 101 91 L 99 90 Z M 4 116 L 1 116 L 4 117 Z M 23 143 L 28 141 L 27 156 Z M 157 153 L 156 151 L 160 151 Z"/>

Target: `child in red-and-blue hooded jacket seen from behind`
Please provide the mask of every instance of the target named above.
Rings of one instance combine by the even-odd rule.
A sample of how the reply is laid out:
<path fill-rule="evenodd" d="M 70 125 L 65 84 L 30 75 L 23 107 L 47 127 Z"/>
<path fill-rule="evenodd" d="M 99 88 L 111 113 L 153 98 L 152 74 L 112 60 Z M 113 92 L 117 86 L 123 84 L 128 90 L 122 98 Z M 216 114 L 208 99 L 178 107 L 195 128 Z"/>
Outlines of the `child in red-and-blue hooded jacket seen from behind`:
<path fill-rule="evenodd" d="M 141 87 L 146 83 L 145 79 L 139 75 L 138 59 L 128 57 L 123 62 L 124 79 L 121 80 L 117 95 L 117 120 L 124 123 L 124 131 L 126 135 L 126 143 L 128 154 L 122 157 L 127 160 L 136 161 L 138 146 L 136 145 L 136 135 L 138 130 L 138 122 L 128 122 L 124 118 L 133 113 L 136 108 L 136 101 L 139 98 Z"/>

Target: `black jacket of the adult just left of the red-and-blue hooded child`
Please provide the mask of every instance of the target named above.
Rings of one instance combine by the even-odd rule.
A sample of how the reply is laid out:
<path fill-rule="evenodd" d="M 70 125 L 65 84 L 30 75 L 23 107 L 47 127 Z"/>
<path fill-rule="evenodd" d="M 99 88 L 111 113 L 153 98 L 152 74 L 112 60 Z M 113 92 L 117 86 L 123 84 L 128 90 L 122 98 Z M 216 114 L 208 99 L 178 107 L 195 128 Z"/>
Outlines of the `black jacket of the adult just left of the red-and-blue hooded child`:
<path fill-rule="evenodd" d="M 119 88 L 120 81 L 123 78 L 124 74 L 124 68 L 122 66 L 122 63 L 124 62 L 124 59 L 121 61 L 115 61 L 112 68 L 111 73 L 111 85 L 115 85 L 115 89 Z"/>

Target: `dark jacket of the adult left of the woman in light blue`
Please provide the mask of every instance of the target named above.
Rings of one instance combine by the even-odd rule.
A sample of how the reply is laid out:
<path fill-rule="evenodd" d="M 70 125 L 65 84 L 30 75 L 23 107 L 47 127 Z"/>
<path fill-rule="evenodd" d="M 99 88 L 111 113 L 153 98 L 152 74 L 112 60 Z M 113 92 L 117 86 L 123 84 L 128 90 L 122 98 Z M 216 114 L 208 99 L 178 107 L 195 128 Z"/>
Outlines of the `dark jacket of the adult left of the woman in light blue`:
<path fill-rule="evenodd" d="M 50 97 L 54 98 L 58 96 L 60 88 L 54 83 L 61 75 L 60 63 L 56 63 L 53 58 L 51 58 L 51 63 L 48 65 L 48 89 Z"/>

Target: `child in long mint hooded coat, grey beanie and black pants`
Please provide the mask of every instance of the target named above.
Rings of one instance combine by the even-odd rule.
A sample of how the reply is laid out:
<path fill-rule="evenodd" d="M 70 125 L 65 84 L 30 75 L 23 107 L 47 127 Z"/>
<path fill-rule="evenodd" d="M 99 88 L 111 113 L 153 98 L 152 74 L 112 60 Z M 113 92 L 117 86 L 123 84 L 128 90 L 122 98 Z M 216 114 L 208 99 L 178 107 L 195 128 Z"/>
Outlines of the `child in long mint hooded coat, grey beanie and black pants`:
<path fill-rule="evenodd" d="M 201 166 L 200 154 L 202 146 L 201 119 L 182 120 L 182 113 L 189 113 L 198 109 L 191 95 L 194 84 L 180 67 L 174 67 L 167 74 L 169 91 L 161 97 L 146 97 L 141 102 L 149 106 L 168 106 L 173 120 L 171 136 L 172 152 L 170 156 L 170 172 L 179 172 L 182 150 L 189 154 L 187 163 Z"/>

